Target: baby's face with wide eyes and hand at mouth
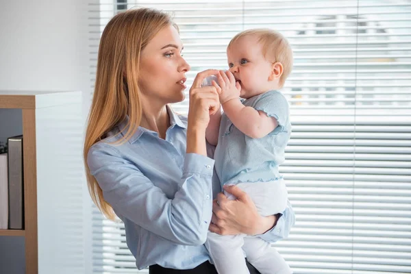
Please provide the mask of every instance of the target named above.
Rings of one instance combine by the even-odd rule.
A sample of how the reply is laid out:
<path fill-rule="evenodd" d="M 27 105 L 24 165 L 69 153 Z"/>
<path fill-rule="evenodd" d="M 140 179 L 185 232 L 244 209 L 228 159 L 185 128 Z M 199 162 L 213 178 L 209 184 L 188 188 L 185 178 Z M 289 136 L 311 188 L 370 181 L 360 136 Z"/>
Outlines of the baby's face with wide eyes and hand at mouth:
<path fill-rule="evenodd" d="M 229 71 L 241 85 L 240 97 L 250 98 L 270 90 L 272 62 L 264 58 L 256 36 L 244 36 L 227 48 Z"/>

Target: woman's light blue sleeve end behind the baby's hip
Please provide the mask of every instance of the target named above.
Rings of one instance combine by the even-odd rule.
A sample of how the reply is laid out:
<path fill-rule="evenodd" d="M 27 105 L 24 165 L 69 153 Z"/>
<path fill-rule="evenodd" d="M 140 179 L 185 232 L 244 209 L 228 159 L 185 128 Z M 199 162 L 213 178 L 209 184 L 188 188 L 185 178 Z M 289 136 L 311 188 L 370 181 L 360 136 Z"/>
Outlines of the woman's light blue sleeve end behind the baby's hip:
<path fill-rule="evenodd" d="M 290 201 L 287 201 L 287 207 L 284 212 L 282 212 L 282 216 L 280 216 L 277 220 L 275 227 L 262 235 L 258 235 L 258 237 L 266 240 L 267 242 L 277 242 L 277 240 L 288 238 L 291 227 L 293 227 L 294 224 L 295 213 L 292 209 Z"/>

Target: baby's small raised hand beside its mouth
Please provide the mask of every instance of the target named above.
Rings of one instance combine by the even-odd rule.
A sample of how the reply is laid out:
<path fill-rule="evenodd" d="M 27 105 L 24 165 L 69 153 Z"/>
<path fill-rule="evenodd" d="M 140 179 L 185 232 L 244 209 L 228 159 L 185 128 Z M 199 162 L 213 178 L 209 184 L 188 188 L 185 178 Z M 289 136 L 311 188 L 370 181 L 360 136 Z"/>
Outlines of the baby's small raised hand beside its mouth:
<path fill-rule="evenodd" d="M 216 76 L 219 84 L 217 85 L 213 82 L 213 86 L 219 93 L 221 104 L 231 99 L 240 98 L 241 86 L 239 83 L 236 83 L 236 79 L 230 71 L 220 71 Z"/>

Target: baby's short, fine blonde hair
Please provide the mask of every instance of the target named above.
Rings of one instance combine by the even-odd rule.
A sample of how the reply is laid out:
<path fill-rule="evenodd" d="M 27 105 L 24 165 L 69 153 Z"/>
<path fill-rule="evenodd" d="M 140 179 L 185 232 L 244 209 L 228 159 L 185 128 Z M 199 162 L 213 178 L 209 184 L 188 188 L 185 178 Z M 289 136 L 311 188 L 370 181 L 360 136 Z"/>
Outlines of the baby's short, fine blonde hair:
<path fill-rule="evenodd" d="M 238 39 L 245 36 L 257 36 L 258 42 L 262 44 L 262 54 L 270 62 L 280 62 L 283 65 L 283 73 L 279 78 L 279 84 L 284 82 L 292 71 L 292 49 L 288 40 L 273 29 L 247 29 L 236 34 L 227 46 L 227 49 Z"/>

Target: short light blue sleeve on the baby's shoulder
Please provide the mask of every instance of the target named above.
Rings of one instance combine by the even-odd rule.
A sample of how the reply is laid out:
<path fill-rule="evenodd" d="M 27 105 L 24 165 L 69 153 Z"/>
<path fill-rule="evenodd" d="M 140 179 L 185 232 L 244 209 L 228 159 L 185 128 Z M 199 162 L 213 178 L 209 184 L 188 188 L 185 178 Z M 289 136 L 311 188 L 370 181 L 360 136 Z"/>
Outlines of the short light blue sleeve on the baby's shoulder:
<path fill-rule="evenodd" d="M 278 125 L 284 127 L 288 123 L 289 108 L 286 97 L 277 90 L 264 93 L 254 108 L 265 112 L 267 116 L 277 119 Z"/>

